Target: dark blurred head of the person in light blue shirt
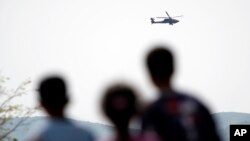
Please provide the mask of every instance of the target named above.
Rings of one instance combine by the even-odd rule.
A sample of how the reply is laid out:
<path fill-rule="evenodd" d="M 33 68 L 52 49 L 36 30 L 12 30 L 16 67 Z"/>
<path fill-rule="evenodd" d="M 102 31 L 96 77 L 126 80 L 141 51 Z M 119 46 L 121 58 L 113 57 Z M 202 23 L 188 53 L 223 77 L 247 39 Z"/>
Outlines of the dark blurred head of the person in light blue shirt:
<path fill-rule="evenodd" d="M 40 102 L 51 116 L 61 116 L 68 103 L 64 80 L 58 76 L 47 77 L 39 85 Z"/>

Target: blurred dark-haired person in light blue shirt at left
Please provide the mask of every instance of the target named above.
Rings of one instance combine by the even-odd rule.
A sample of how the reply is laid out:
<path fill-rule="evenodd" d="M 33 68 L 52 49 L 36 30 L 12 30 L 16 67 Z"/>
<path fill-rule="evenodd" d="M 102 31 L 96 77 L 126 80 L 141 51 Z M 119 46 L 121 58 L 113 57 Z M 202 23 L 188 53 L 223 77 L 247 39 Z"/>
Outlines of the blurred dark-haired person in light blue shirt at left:
<path fill-rule="evenodd" d="M 74 125 L 65 117 L 64 108 L 69 102 L 64 80 L 58 76 L 45 78 L 39 85 L 41 106 L 50 116 L 48 126 L 36 141 L 93 141 L 92 134 Z"/>

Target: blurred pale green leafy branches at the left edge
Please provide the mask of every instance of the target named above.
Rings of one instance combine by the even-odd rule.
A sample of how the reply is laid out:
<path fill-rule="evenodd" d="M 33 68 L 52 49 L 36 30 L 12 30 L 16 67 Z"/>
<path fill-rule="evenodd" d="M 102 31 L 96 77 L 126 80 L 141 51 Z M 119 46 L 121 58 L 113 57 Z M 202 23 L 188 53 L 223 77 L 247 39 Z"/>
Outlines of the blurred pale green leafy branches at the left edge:
<path fill-rule="evenodd" d="M 0 141 L 12 140 L 17 141 L 16 138 L 11 139 L 9 136 L 18 127 L 22 126 L 27 118 L 35 112 L 35 108 L 25 107 L 13 102 L 18 97 L 26 95 L 27 87 L 31 80 L 23 81 L 16 88 L 8 88 L 6 83 L 10 78 L 0 74 Z M 12 122 L 15 117 L 21 117 L 18 122 Z"/>

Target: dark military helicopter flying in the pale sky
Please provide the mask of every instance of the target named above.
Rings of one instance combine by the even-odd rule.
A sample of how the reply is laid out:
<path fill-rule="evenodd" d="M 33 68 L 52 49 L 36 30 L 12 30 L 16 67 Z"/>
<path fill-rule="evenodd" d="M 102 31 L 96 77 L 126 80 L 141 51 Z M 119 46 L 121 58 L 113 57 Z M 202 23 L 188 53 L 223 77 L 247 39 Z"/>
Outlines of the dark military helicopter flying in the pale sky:
<path fill-rule="evenodd" d="M 166 11 L 166 14 L 168 15 L 168 17 L 155 17 L 155 18 L 163 18 L 162 21 L 155 21 L 155 18 L 150 18 L 151 24 L 167 24 L 168 23 L 169 25 L 173 25 L 179 22 L 179 20 L 176 20 L 174 18 L 183 16 L 183 15 L 180 15 L 180 16 L 170 17 L 167 11 Z"/>

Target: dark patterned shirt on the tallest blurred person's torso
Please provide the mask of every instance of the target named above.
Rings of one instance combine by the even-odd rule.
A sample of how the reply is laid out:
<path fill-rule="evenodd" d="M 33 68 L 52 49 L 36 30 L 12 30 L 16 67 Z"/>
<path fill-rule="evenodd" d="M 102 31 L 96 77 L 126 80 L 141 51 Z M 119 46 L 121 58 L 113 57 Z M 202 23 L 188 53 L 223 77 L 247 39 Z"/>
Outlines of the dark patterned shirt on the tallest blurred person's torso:
<path fill-rule="evenodd" d="M 180 92 L 164 92 L 145 112 L 143 130 L 155 130 L 170 141 L 219 141 L 209 110 Z"/>

